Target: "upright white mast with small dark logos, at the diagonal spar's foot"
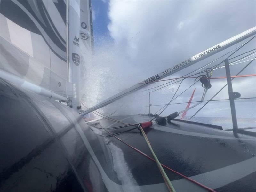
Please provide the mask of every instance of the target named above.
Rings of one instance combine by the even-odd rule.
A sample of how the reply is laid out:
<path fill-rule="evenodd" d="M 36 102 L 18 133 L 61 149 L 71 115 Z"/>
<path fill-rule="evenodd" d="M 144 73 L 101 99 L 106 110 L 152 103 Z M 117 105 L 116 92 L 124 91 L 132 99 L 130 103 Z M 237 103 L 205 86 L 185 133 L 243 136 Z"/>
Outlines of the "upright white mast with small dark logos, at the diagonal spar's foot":
<path fill-rule="evenodd" d="M 68 5 L 67 5 L 68 6 Z M 69 106 L 80 111 L 80 0 L 69 1 L 69 82 L 72 98 Z"/>

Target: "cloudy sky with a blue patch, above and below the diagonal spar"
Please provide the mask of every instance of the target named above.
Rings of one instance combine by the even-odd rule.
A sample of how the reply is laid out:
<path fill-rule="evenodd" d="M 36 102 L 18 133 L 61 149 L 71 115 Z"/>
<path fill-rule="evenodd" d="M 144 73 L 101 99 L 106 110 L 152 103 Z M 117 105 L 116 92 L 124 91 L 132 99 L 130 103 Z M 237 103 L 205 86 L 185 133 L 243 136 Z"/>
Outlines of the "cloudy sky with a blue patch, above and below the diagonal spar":
<path fill-rule="evenodd" d="M 88 106 L 93 106 L 213 45 L 256 26 L 256 1 L 99 0 L 92 1 L 92 6 L 95 55 L 92 66 L 87 69 L 88 86 L 84 98 Z M 168 78 L 185 75 L 244 42 Z M 252 40 L 235 55 L 255 48 L 255 40 Z M 253 57 L 248 59 L 251 58 Z M 224 59 L 225 57 L 222 57 L 217 61 Z M 215 62 L 212 65 L 214 64 L 218 63 Z M 231 67 L 231 75 L 235 75 L 246 64 L 241 63 Z M 255 61 L 253 61 L 241 74 L 255 73 Z M 213 76 L 225 76 L 225 68 L 214 71 Z M 255 77 L 235 79 L 233 90 L 240 92 L 241 97 L 244 98 L 255 97 L 255 82 Z M 144 90 L 164 83 L 166 82 L 152 84 Z M 177 94 L 193 83 L 194 79 L 185 80 Z M 225 79 L 212 80 L 212 88 L 207 92 L 205 100 L 210 99 L 225 83 Z M 123 105 L 119 109 L 120 113 L 148 112 L 148 108 L 144 106 L 148 105 L 150 91 L 154 91 L 151 93 L 152 105 L 166 104 L 177 87 L 178 84 L 157 91 L 154 91 L 155 89 L 140 90 L 102 110 L 111 113 Z M 200 100 L 203 88 L 200 83 L 197 83 L 172 103 L 188 102 L 194 88 L 196 92 L 193 101 Z M 228 90 L 224 89 L 215 99 L 227 98 Z M 255 99 L 236 101 L 237 116 L 255 118 L 255 103 Z M 192 116 L 201 106 L 188 111 L 187 116 Z M 161 107 L 151 107 L 151 112 L 155 113 Z M 181 111 L 185 107 L 186 104 L 171 105 L 165 110 L 164 115 Z M 230 117 L 229 102 L 210 102 L 197 116 Z"/>

